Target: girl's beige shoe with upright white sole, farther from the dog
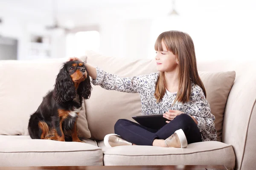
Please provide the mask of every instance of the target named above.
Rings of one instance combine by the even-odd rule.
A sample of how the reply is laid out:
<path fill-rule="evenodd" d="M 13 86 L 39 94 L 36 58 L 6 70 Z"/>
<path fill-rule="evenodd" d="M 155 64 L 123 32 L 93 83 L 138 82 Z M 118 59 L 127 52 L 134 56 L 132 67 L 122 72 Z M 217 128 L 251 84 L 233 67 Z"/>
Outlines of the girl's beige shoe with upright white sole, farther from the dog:
<path fill-rule="evenodd" d="M 175 133 L 172 134 L 165 141 L 166 147 L 187 147 L 188 142 L 186 140 L 185 133 L 182 129 L 176 130 Z"/>

